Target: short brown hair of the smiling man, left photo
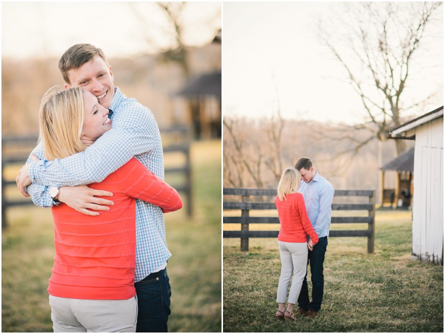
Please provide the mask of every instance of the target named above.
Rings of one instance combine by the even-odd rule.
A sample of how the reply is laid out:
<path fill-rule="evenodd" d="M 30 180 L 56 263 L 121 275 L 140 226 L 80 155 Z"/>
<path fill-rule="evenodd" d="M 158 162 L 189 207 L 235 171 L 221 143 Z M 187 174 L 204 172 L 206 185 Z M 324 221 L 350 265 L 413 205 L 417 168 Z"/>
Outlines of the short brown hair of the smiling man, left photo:
<path fill-rule="evenodd" d="M 78 69 L 89 62 L 96 54 L 105 61 L 107 66 L 110 66 L 103 51 L 91 44 L 76 44 L 66 50 L 59 60 L 59 70 L 65 83 L 71 84 L 68 78 L 70 70 Z"/>

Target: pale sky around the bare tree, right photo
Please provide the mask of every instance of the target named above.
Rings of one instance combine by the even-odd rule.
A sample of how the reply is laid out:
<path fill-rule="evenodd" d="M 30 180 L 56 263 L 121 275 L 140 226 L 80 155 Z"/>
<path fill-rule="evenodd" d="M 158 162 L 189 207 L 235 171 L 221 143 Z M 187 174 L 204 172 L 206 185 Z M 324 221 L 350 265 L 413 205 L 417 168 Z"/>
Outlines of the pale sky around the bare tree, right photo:
<path fill-rule="evenodd" d="M 360 98 L 317 38 L 318 19 L 336 7 L 336 2 L 224 2 L 223 115 L 271 116 L 279 101 L 285 118 L 360 122 Z M 440 96 L 417 111 L 420 115 L 443 105 L 443 9 L 435 29 L 442 39 L 428 50 L 439 65 L 410 69 L 424 79 L 411 81 L 403 93 L 423 98 L 440 87 Z M 426 61 L 431 64 L 431 58 Z"/>

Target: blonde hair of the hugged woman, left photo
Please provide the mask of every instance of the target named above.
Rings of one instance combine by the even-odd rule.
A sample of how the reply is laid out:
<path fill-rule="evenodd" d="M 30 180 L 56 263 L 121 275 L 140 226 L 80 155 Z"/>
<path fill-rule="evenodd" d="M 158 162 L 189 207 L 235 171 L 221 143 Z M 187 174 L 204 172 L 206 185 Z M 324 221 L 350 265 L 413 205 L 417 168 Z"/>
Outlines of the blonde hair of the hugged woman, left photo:
<path fill-rule="evenodd" d="M 54 86 L 42 98 L 39 112 L 39 140 L 46 159 L 69 157 L 87 148 L 80 140 L 85 100 L 81 87 Z"/>

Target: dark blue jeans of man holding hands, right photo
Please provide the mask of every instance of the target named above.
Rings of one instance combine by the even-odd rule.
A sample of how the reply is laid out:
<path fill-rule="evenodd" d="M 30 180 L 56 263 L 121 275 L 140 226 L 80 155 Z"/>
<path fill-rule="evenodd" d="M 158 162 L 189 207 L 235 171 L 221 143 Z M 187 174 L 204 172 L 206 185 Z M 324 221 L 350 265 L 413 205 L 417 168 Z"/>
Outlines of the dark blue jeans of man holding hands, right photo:
<path fill-rule="evenodd" d="M 308 264 L 311 265 L 312 301 L 310 302 L 309 300 L 308 271 L 306 271 L 300 296 L 298 297 L 298 306 L 305 311 L 313 310 L 318 312 L 321 308 L 324 289 L 323 262 L 326 248 L 327 237 L 322 237 L 319 238 L 313 250 L 310 250 L 308 253 Z"/>

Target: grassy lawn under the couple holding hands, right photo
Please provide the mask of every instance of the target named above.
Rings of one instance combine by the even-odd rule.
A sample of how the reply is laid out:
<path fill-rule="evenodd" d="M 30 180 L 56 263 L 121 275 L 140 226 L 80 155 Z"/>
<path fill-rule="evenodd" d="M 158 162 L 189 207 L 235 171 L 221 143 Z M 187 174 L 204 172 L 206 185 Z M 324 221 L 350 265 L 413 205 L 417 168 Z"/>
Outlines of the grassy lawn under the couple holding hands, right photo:
<path fill-rule="evenodd" d="M 410 259 L 411 213 L 377 211 L 375 252 L 366 245 L 366 238 L 330 238 L 318 317 L 285 323 L 274 316 L 276 240 L 250 239 L 241 252 L 239 239 L 224 239 L 223 332 L 443 333 L 444 267 Z"/>

